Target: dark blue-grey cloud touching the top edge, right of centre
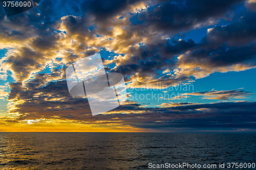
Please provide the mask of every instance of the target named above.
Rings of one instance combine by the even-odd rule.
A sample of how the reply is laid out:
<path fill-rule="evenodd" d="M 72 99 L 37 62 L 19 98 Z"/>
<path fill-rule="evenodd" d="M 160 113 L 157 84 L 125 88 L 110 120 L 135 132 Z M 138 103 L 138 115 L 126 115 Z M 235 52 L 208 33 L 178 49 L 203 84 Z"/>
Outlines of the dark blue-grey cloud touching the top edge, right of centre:
<path fill-rule="evenodd" d="M 163 1 L 149 11 L 138 15 L 141 25 L 152 27 L 157 31 L 182 32 L 202 25 L 209 25 L 216 17 L 224 17 L 231 10 L 231 6 L 244 1 Z"/>

